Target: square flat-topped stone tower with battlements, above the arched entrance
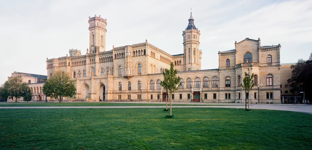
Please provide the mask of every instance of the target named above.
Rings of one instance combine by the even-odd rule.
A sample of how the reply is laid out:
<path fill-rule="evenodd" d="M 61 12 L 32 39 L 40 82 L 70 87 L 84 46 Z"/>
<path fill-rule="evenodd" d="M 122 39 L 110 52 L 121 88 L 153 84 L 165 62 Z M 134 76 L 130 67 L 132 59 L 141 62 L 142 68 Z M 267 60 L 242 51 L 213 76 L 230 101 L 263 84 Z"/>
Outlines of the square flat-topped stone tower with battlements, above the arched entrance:
<path fill-rule="evenodd" d="M 105 51 L 106 19 L 101 16 L 89 17 L 90 53 Z"/>

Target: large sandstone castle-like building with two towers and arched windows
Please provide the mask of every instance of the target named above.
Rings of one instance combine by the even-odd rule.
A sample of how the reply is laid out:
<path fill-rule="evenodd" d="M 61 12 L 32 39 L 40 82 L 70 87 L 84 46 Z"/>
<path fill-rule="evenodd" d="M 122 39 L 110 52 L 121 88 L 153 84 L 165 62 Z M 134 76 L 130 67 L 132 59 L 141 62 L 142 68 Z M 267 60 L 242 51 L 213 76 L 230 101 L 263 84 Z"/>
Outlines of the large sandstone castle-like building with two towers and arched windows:
<path fill-rule="evenodd" d="M 182 32 L 183 53 L 178 55 L 170 55 L 147 40 L 105 51 L 106 26 L 106 19 L 89 17 L 90 47 L 85 55 L 70 49 L 69 56 L 46 60 L 48 79 L 61 70 L 76 80 L 76 99 L 165 101 L 160 80 L 173 62 L 182 78 L 180 89 L 170 95 L 173 101 L 244 103 L 245 90 L 240 85 L 249 68 L 255 74 L 255 86 L 247 94 L 251 103 L 258 103 L 258 86 L 261 103 L 281 103 L 280 44 L 261 46 L 260 38 L 235 41 L 232 50 L 218 52 L 218 69 L 202 70 L 201 34 L 192 13 Z"/>

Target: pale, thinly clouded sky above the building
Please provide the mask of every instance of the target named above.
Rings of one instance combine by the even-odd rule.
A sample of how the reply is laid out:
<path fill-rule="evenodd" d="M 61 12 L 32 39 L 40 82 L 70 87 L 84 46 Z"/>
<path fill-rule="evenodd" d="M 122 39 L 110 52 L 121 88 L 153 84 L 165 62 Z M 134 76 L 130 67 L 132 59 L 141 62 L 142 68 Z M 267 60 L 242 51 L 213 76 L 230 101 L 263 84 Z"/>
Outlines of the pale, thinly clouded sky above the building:
<path fill-rule="evenodd" d="M 47 75 L 46 58 L 89 48 L 88 19 L 107 19 L 106 51 L 148 42 L 171 55 L 183 53 L 190 9 L 200 30 L 202 69 L 218 68 L 218 51 L 235 41 L 281 44 L 281 63 L 312 52 L 312 0 L 12 0 L 0 5 L 0 84 L 14 71 Z"/>

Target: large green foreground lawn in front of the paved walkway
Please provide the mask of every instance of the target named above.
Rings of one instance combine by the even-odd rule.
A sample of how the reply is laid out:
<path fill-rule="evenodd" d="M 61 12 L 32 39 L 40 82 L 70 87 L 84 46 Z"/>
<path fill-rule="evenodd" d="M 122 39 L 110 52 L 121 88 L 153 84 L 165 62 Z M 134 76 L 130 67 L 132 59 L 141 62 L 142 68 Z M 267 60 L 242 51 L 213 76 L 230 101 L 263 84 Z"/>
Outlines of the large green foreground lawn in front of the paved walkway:
<path fill-rule="evenodd" d="M 0 109 L 0 149 L 311 149 L 312 115 L 174 108 Z"/>

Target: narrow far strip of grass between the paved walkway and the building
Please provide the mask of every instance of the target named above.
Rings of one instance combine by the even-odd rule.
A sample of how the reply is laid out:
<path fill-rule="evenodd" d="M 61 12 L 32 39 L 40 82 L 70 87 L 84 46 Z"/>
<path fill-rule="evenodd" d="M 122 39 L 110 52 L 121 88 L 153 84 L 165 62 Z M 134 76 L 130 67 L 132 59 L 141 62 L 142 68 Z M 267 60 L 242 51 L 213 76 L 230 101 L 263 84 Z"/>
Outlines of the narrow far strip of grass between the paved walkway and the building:
<path fill-rule="evenodd" d="M 198 104 L 172 104 L 173 106 L 197 106 Z M 29 103 L 0 103 L 0 107 L 23 107 L 23 106 L 166 106 L 166 104 L 149 104 L 149 103 L 104 103 L 104 102 L 63 102 L 63 103 L 55 103 L 55 102 L 29 102 Z M 170 106 L 170 102 L 168 102 L 168 106 Z M 215 106 L 215 105 L 200 105 L 200 106 Z M 225 105 L 218 105 L 225 106 Z M 229 106 L 229 105 L 226 105 Z"/>

